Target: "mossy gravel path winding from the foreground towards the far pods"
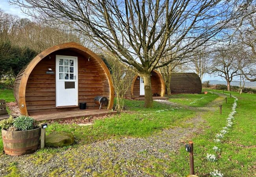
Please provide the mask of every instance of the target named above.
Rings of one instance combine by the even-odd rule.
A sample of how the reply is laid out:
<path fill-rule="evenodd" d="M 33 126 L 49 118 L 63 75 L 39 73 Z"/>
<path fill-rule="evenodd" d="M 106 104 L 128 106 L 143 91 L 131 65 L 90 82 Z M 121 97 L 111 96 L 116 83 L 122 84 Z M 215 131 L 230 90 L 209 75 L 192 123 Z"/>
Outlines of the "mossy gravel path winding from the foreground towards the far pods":
<path fill-rule="evenodd" d="M 220 99 L 213 101 L 210 106 L 217 108 Z M 223 101 L 223 98 L 221 98 Z M 174 105 L 174 103 L 161 102 Z M 175 104 L 175 107 L 177 105 Z M 210 106 L 203 108 L 211 111 Z M 179 105 L 180 107 L 180 105 Z M 183 106 L 184 107 L 184 106 Z M 145 173 L 146 168 L 153 168 L 151 164 L 157 159 L 169 160 L 170 153 L 178 153 L 178 149 L 195 133 L 201 133 L 204 120 L 202 108 L 187 107 L 197 110 L 195 118 L 186 121 L 189 127 L 170 127 L 160 133 L 146 138 L 125 137 L 97 141 L 92 144 L 70 147 L 56 153 L 11 157 L 0 156 L 0 176 L 7 174 L 9 163 L 16 162 L 22 176 L 133 176 L 150 177 Z M 168 176 L 165 170 L 163 176 Z M 165 174 L 166 173 L 166 174 Z M 117 175 L 118 174 L 118 175 Z"/>

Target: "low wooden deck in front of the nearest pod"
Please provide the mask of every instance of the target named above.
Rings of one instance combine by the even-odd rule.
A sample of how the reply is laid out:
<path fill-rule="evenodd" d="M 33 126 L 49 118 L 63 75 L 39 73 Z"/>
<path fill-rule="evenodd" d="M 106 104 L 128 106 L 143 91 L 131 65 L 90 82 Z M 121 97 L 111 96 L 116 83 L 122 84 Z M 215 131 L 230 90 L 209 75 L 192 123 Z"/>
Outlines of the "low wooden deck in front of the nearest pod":
<path fill-rule="evenodd" d="M 117 114 L 109 109 L 84 109 L 74 111 L 37 111 L 30 114 L 35 120 L 69 120 L 81 117 L 100 117 Z"/>

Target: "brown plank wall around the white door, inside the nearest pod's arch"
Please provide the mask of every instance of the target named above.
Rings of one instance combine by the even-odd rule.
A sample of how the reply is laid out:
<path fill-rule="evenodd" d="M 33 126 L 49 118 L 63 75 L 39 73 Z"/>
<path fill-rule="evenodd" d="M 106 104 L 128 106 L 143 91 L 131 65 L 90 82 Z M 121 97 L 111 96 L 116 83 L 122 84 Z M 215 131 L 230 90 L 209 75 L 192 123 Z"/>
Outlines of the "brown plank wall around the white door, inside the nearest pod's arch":
<path fill-rule="evenodd" d="M 42 59 L 33 69 L 26 86 L 26 106 L 28 113 L 42 110 L 75 110 L 79 108 L 56 109 L 56 78 L 55 74 L 45 72 L 52 68 L 55 72 L 56 55 L 78 57 L 78 100 L 86 102 L 87 107 L 93 107 L 95 96 L 109 97 L 109 84 L 106 74 L 100 64 L 93 58 L 74 51 L 62 50 L 51 53 Z"/>

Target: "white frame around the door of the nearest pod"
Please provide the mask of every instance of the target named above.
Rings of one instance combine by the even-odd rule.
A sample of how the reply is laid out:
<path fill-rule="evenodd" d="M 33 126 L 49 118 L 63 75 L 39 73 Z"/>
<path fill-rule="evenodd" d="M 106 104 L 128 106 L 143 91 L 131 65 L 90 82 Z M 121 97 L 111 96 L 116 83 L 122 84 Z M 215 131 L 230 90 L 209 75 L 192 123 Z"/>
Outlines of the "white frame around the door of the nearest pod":
<path fill-rule="evenodd" d="M 74 59 L 75 64 L 76 64 L 76 72 L 74 72 L 74 82 L 75 82 L 75 93 L 76 93 L 76 104 L 75 105 L 60 105 L 60 103 L 58 103 L 58 81 L 62 81 L 59 79 L 59 61 L 58 58 L 59 57 L 64 57 L 64 58 L 68 58 L 68 59 Z M 64 70 L 64 68 L 63 68 Z M 78 106 L 78 57 L 74 57 L 74 56 L 66 56 L 66 55 L 56 55 L 56 107 L 74 107 L 74 106 Z M 65 76 L 63 76 L 65 77 Z M 63 80 L 65 82 L 65 79 Z M 65 95 L 63 95 L 65 96 Z"/>

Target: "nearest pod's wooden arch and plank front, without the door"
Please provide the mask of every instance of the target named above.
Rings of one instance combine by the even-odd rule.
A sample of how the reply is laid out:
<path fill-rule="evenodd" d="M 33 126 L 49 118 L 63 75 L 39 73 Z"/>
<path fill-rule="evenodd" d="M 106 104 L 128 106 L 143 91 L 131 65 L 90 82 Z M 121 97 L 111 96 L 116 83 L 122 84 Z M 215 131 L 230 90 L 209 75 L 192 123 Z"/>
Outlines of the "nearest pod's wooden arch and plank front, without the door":
<path fill-rule="evenodd" d="M 61 111 L 56 109 L 56 55 L 78 57 L 79 103 L 86 102 L 87 107 L 93 107 L 95 96 L 105 96 L 109 99 L 108 109 L 112 109 L 114 90 L 107 66 L 89 49 L 70 42 L 46 49 L 18 74 L 14 95 L 22 114 L 42 110 Z M 49 68 L 52 74 L 46 74 Z"/>

